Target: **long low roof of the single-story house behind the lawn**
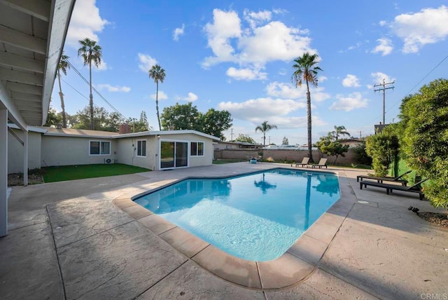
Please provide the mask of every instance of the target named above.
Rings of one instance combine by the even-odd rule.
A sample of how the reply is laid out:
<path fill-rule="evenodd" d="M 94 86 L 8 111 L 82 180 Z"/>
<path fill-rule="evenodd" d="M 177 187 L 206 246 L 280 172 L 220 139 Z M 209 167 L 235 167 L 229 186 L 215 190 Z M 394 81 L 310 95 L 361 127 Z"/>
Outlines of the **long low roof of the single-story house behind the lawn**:
<path fill-rule="evenodd" d="M 207 135 L 206 133 L 199 132 L 196 130 L 161 130 L 161 131 L 144 131 L 144 132 L 134 132 L 126 133 L 123 135 L 117 132 L 109 131 L 99 131 L 99 130 L 87 130 L 87 129 L 73 129 L 73 128 L 52 128 L 52 127 L 41 127 L 46 130 L 45 135 L 52 136 L 64 136 L 64 137 L 94 137 L 103 139 L 120 139 L 123 137 L 146 137 L 148 135 L 181 135 L 181 134 L 193 134 L 200 135 L 202 137 L 207 137 L 209 139 L 214 139 L 219 141 L 218 137 L 213 135 Z"/>

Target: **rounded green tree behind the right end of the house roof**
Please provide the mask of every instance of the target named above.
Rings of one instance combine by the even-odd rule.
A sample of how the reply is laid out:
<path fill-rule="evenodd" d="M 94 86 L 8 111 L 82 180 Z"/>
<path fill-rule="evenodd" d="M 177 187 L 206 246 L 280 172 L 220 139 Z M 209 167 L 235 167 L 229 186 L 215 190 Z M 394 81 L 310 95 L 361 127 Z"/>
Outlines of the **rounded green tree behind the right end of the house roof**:
<path fill-rule="evenodd" d="M 225 139 L 224 131 L 232 126 L 232 116 L 228 111 L 216 111 L 209 109 L 207 113 L 202 114 L 202 132 L 207 135 L 219 137 L 221 140 Z"/>

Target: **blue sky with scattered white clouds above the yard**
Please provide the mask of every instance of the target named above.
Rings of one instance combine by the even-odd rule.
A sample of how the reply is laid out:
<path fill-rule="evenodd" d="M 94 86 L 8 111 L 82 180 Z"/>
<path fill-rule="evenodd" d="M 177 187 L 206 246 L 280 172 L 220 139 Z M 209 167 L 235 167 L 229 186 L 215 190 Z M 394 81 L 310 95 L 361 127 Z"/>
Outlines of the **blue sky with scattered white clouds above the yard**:
<path fill-rule="evenodd" d="M 79 40 L 102 46 L 92 84 L 126 118 L 146 111 L 158 130 L 153 64 L 165 69 L 159 84 L 164 107 L 193 102 L 232 114 L 227 140 L 239 134 L 262 143 L 255 128 L 276 125 L 266 143 L 307 143 L 305 88 L 291 81 L 303 53 L 317 54 L 312 87 L 312 140 L 343 125 L 353 137 L 399 120 L 403 97 L 434 79 L 447 78 L 448 5 L 442 0 L 402 1 L 146 1 L 76 0 L 64 53 L 88 80 Z M 89 86 L 73 69 L 62 76 L 68 114 L 89 103 Z M 51 106 L 60 111 L 58 85 Z M 112 112 L 102 97 L 94 104 Z"/>

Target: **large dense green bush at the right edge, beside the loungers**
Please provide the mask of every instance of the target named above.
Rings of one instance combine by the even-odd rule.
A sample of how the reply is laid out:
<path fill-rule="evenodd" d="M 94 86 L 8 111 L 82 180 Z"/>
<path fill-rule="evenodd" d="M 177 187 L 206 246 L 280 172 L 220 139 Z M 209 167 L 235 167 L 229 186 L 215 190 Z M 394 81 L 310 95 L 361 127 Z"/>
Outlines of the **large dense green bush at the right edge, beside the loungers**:
<path fill-rule="evenodd" d="M 430 179 L 425 195 L 431 203 L 448 208 L 448 81 L 437 79 L 406 97 L 400 118 L 407 164 Z"/>

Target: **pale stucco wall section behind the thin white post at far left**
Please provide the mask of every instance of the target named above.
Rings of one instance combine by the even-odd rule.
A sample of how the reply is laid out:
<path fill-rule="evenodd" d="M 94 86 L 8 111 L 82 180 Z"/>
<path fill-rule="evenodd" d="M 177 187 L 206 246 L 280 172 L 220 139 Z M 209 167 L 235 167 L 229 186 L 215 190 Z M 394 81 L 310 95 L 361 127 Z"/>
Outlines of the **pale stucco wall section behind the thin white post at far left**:
<path fill-rule="evenodd" d="M 12 129 L 19 137 L 21 130 Z M 41 132 L 28 132 L 28 169 L 41 168 Z M 23 146 L 8 132 L 8 174 L 23 172 Z"/>

